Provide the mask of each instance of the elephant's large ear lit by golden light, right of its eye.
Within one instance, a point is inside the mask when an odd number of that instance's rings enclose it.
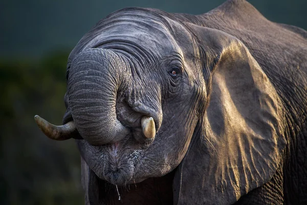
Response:
[[[174,204],[233,204],[275,174],[286,146],[283,112],[270,80],[240,40],[188,26],[199,46],[218,59],[209,72],[209,105],[173,180]]]

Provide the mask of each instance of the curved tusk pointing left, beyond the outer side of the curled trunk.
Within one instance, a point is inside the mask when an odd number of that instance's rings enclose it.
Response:
[[[50,139],[66,140],[72,137],[77,139],[82,138],[78,133],[74,121],[67,122],[67,124],[62,126],[55,126],[38,115],[35,115],[34,118],[39,129]]]

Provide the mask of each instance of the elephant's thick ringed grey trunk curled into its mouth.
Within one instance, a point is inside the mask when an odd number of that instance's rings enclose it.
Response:
[[[115,110],[128,68],[122,56],[105,49],[83,51],[71,64],[69,106],[80,135],[92,145],[115,143],[129,133]]]

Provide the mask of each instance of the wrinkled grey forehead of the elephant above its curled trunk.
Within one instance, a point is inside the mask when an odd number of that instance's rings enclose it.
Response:
[[[142,47],[157,57],[165,56],[170,52],[181,53],[169,29],[167,24],[157,16],[146,12],[123,11],[99,22],[83,36],[79,46],[82,47],[81,50],[87,50],[103,48],[109,44],[130,44]]]

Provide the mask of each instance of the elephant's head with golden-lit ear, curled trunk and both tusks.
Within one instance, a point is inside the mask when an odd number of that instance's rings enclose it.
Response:
[[[77,138],[82,172],[114,185],[176,172],[174,204],[236,201],[271,179],[286,144],[279,98],[249,50],[188,17],[107,16],[70,54],[67,82],[64,126],[36,117],[43,132]]]

